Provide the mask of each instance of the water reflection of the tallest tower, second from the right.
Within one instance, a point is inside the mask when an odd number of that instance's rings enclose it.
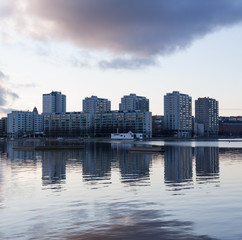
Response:
[[[192,181],[192,147],[165,146],[165,183]]]

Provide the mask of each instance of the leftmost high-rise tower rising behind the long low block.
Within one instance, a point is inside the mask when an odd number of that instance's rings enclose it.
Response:
[[[65,113],[66,95],[61,92],[43,94],[43,113]]]

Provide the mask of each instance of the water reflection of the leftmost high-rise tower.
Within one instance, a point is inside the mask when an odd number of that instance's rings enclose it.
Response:
[[[58,185],[62,183],[62,180],[66,179],[66,159],[68,159],[68,152],[66,151],[44,152],[42,159],[43,185]]]

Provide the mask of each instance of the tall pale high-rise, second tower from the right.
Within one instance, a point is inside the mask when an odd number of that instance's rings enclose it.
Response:
[[[173,91],[164,96],[164,124],[178,137],[191,136],[192,98],[189,95]]]

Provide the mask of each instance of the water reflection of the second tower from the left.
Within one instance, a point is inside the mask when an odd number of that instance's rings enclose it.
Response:
[[[110,144],[90,142],[85,145],[83,156],[83,180],[92,181],[111,179]]]

